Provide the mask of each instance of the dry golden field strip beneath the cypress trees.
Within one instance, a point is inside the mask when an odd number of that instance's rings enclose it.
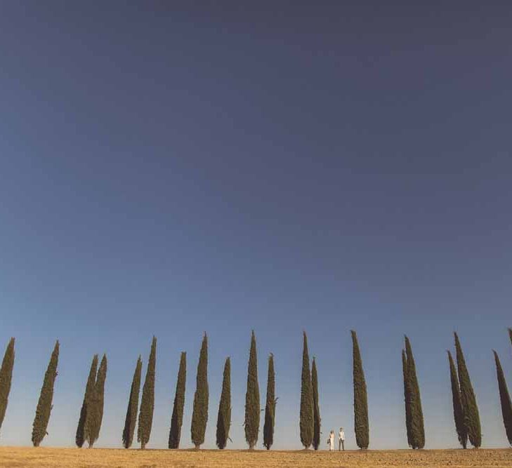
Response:
[[[0,467],[512,467],[500,450],[123,450],[1,447]]]

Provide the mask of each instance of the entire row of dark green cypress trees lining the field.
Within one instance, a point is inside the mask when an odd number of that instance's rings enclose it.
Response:
[[[362,368],[357,335],[354,330],[350,331],[353,342],[353,395],[354,395],[354,429],[357,446],[365,450],[369,446],[369,417],[367,387],[365,373]],[[512,328],[508,329],[512,343]],[[462,352],[461,343],[457,333],[454,333],[455,354],[457,366],[448,354],[448,365],[450,383],[452,389],[452,403],[455,429],[459,443],[466,448],[468,440],[478,448],[482,443],[480,428],[480,415],[478,405],[471,385],[466,361]],[[0,428],[6,413],[8,395],[11,389],[11,380],[14,365],[14,344],[15,339],[8,342],[4,359],[0,367]],[[155,407],[155,366],[157,354],[157,339],[153,337],[150,350],[150,358],[147,363],[147,371],[143,386],[143,394],[138,408],[140,381],[142,373],[142,360],[138,356],[131,391],[129,396],[126,419],[122,434],[122,441],[125,448],[131,447],[135,433],[136,419],[138,413],[137,440],[140,447],[145,448],[150,440],[152,428],[152,417]],[[512,445],[512,402],[508,393],[503,368],[496,351],[493,350],[494,362],[497,370],[497,382],[501,403],[501,413],[508,442]],[[39,446],[43,441],[48,427],[48,421],[53,408],[53,387],[57,377],[59,356],[59,342],[51,354],[46,373],[44,375],[39,401],[37,403],[36,415],[32,424],[32,443]],[[190,428],[192,443],[199,448],[204,443],[206,424],[208,421],[208,338],[204,333],[199,363],[197,365],[196,391],[192,412],[192,425]],[[228,357],[225,360],[223,372],[223,384],[221,399],[218,406],[216,444],[218,448],[225,448],[230,440],[229,432],[231,425],[231,394],[230,394],[230,373],[231,363]],[[425,429],[423,411],[421,408],[421,395],[419,382],[416,375],[416,365],[412,353],[410,340],[405,336],[405,348],[402,349],[402,373],[404,380],[405,399],[405,426],[407,431],[407,442],[411,448],[424,448]],[[104,354],[98,369],[98,354],[93,356],[91,368],[86,382],[84,400],[81,406],[79,422],[75,441],[78,447],[88,442],[89,448],[99,437],[101,422],[103,420],[105,380],[107,377],[107,357]],[[181,353],[178,379],[176,382],[176,393],[174,397],[173,413],[171,416],[171,429],[169,431],[169,448],[178,448],[180,443],[181,426],[183,424],[183,408],[185,405],[185,380],[186,380],[186,353]],[[263,425],[263,446],[270,450],[273,445],[275,427],[275,370],[274,356],[268,358],[267,394],[265,401],[265,420]],[[260,426],[260,395],[258,386],[258,362],[256,352],[256,336],[251,333],[251,346],[249,350],[249,363],[247,368],[247,392],[245,404],[244,432],[249,449],[254,449],[258,441]],[[303,333],[303,365],[301,378],[301,406],[299,417],[299,429],[301,443],[305,448],[313,446],[315,450],[320,446],[320,406],[318,401],[318,375],[315,358],[310,369],[308,352],[308,338]]]

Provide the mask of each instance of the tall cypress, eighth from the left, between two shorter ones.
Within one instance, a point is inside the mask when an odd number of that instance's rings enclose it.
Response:
[[[204,333],[197,363],[196,389],[194,394],[194,409],[192,410],[192,425],[190,435],[192,443],[198,449],[204,443],[204,433],[208,422],[208,337]]]

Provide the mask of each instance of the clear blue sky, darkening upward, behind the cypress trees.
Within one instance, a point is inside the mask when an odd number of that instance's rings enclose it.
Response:
[[[404,334],[426,448],[457,447],[454,330],[483,446],[508,446],[492,349],[512,385],[512,5],[420,3],[0,4],[0,352],[16,337],[1,445],[30,444],[58,339],[43,445],[74,444],[91,358],[106,353],[96,445],[121,447],[156,335],[147,447],[167,445],[182,351],[192,446],[206,331],[204,448],[227,356],[228,447],[245,448],[254,329],[262,402],[275,356],[274,448],[301,448],[303,330],[321,448],[340,426],[356,448],[354,329],[370,448],[407,448]]]

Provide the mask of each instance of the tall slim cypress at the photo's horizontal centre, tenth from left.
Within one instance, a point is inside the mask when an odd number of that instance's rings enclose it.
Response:
[[[260,389],[258,386],[258,356],[256,354],[256,336],[251,334],[251,349],[247,366],[247,392],[245,394],[245,440],[249,450],[253,450],[258,441],[260,429]]]

